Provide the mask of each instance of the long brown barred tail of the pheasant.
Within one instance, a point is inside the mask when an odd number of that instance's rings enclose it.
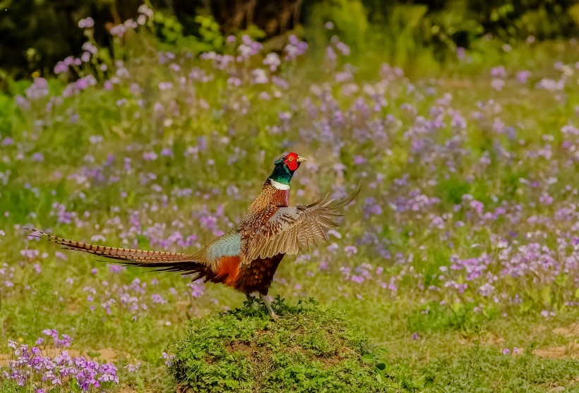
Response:
[[[136,250],[134,248],[117,248],[97,246],[95,244],[72,241],[59,236],[47,234],[38,229],[25,228],[31,233],[27,236],[41,238],[60,244],[65,250],[82,251],[92,255],[120,261],[123,265],[155,267],[159,271],[182,272],[182,274],[200,273],[207,265],[195,254],[172,253],[168,251]]]

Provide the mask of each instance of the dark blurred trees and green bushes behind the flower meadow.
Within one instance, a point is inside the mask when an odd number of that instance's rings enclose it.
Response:
[[[332,34],[352,52],[376,50],[381,60],[406,65],[428,56],[438,63],[479,42],[573,38],[579,32],[574,0],[153,0],[161,42],[199,53],[220,51],[223,37],[249,32],[273,49],[287,34],[323,47]],[[78,22],[95,20],[95,40],[137,15],[142,0],[0,0],[0,78],[47,75],[57,61],[78,56],[85,42]],[[316,46],[316,43],[320,45]],[[35,74],[36,75],[36,74]]]

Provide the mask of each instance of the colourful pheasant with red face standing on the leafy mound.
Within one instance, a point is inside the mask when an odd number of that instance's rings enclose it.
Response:
[[[96,246],[67,240],[37,229],[30,236],[58,243],[67,250],[100,255],[124,265],[151,267],[153,270],[192,275],[193,281],[225,284],[245,294],[257,292],[271,318],[277,319],[266,298],[275,270],[285,254],[297,254],[328,241],[327,231],[338,224],[341,207],[348,205],[359,193],[342,200],[328,199],[328,194],[310,205],[290,207],[290,181],[302,162],[294,152],[275,162],[273,172],[263,184],[257,198],[251,202],[244,218],[226,234],[215,238],[196,253],[136,250]]]

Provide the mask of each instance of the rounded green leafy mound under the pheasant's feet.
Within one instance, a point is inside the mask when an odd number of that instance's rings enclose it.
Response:
[[[299,301],[244,308],[191,320],[172,345],[172,373],[184,392],[383,392],[383,363],[343,313]]]

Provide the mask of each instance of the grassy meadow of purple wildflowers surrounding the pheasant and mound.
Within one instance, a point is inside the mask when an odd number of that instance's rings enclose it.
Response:
[[[0,95],[1,393],[177,391],[172,343],[244,296],[24,229],[193,252],[290,151],[308,159],[292,205],[361,192],[270,298],[343,313],[374,391],[579,392],[578,42],[489,37],[429,68],[354,52],[332,23],[323,47],[245,32],[193,53],[153,18],[108,47],[83,18],[80,56]]]

